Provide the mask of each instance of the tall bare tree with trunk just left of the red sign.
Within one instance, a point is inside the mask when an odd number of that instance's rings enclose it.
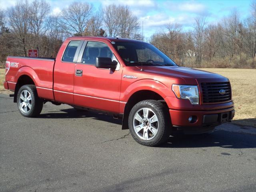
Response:
[[[22,42],[24,56],[27,56],[26,44],[28,32],[30,29],[30,14],[28,0],[18,1],[16,5],[8,9],[9,25],[12,32],[17,34],[18,39]]]

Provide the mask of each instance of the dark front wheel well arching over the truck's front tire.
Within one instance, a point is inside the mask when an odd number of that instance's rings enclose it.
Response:
[[[156,93],[154,91],[140,90],[140,91],[135,92],[134,94],[132,94],[132,96],[130,96],[128,102],[125,105],[122,129],[128,129],[128,118],[129,118],[130,111],[132,110],[132,107],[140,101],[149,100],[149,99],[159,100],[166,104],[164,98],[162,98],[162,96],[160,96],[158,93]],[[166,106],[167,106],[167,104],[166,104]]]

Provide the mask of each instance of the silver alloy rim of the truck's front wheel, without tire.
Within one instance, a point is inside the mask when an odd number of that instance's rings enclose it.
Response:
[[[158,132],[158,125],[158,118],[150,108],[141,108],[134,115],[134,131],[143,140],[154,138]]]

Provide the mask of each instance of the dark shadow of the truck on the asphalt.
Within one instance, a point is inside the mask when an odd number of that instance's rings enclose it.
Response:
[[[50,111],[41,114],[38,118],[93,118],[95,120],[122,124],[122,120],[114,119],[112,116],[89,111],[76,111],[73,108]],[[223,125],[225,126],[225,124]],[[211,134],[184,135],[175,134],[168,139],[166,144],[160,148],[203,148],[203,147],[222,147],[222,148],[256,148],[256,136],[216,130]]]

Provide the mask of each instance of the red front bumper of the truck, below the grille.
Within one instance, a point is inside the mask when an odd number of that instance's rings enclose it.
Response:
[[[184,130],[188,132],[193,130],[194,132],[197,132],[198,129],[206,129],[205,132],[209,132],[209,128],[214,129],[215,126],[229,122],[235,115],[234,107],[209,111],[170,109],[169,112],[172,125],[177,128],[177,130]],[[193,116],[196,120],[194,120],[194,122],[190,122],[190,116]]]

